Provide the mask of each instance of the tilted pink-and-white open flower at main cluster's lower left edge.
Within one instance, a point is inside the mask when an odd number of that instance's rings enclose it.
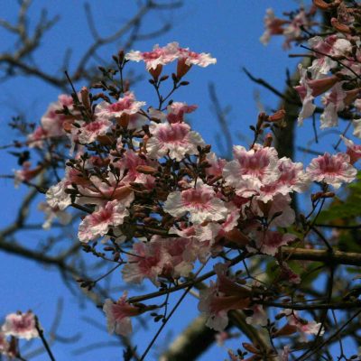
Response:
[[[117,199],[107,202],[105,207],[98,208],[80,223],[79,240],[88,242],[97,236],[106,235],[111,227],[122,225],[128,215],[125,205]]]

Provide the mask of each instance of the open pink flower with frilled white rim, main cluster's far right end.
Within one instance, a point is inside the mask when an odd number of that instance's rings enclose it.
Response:
[[[310,180],[324,181],[335,188],[339,188],[342,182],[349,183],[355,180],[357,173],[345,153],[319,155],[310,162],[306,171]]]

